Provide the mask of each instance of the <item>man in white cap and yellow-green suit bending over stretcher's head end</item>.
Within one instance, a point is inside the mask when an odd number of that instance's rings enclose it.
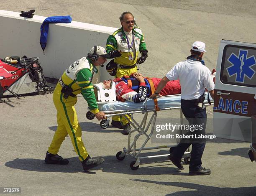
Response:
[[[105,48],[93,46],[87,57],[75,61],[59,79],[53,93],[53,101],[57,109],[58,127],[46,153],[44,160],[46,164],[65,165],[69,163],[69,160],[57,154],[67,135],[69,135],[74,150],[82,162],[84,171],[104,161],[103,158],[92,158],[87,153],[82,141],[82,130],[77,120],[74,104],[77,103],[77,94],[81,93],[95,117],[98,120],[105,118],[105,114],[98,109],[91,82],[93,71],[96,70],[97,72],[96,66],[104,64],[107,56]]]

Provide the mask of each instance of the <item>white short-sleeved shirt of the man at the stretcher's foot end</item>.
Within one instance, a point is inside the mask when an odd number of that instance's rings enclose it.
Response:
[[[204,92],[214,89],[210,70],[200,61],[186,60],[177,63],[166,74],[169,80],[179,79],[181,98],[185,100],[198,99]]]

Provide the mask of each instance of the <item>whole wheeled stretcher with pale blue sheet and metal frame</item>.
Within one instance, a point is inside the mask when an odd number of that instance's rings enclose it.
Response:
[[[98,92],[99,93],[99,92]],[[102,92],[103,93],[103,92]],[[106,92],[104,92],[106,94]],[[98,94],[99,97],[99,94]],[[107,96],[109,97],[109,96]],[[151,139],[153,135],[157,112],[170,110],[170,109],[180,109],[180,123],[182,124],[182,111],[181,111],[181,97],[180,94],[177,95],[168,95],[164,97],[158,97],[157,99],[147,98],[145,102],[141,103],[134,103],[134,102],[120,102],[120,101],[112,101],[112,102],[104,102],[105,98],[100,98],[103,102],[97,102],[99,110],[106,114],[107,119],[102,120],[100,122],[100,127],[103,129],[108,128],[110,117],[113,116],[120,116],[128,120],[128,122],[132,126],[131,132],[128,134],[128,145],[127,148],[123,148],[123,151],[119,151],[116,153],[116,158],[118,160],[123,160],[125,155],[131,155],[135,158],[135,161],[130,163],[130,168],[132,170],[137,170],[140,165],[141,159],[146,158],[156,158],[156,157],[167,157],[169,154],[164,155],[152,155],[152,156],[144,156],[141,157],[141,151],[143,150],[154,150],[154,149],[161,149],[161,148],[169,148],[169,152],[172,153],[174,148],[177,145],[161,145],[156,147],[145,147],[148,141]],[[210,97],[210,101],[213,102],[213,99]],[[157,104],[156,104],[157,102]],[[207,102],[207,94],[205,94],[205,105],[209,105]],[[143,114],[143,119],[141,122],[137,122],[137,120],[133,117],[133,114]],[[130,119],[125,115],[129,115]],[[94,118],[94,114],[92,112],[87,112],[86,114],[87,119],[92,120]],[[135,135],[134,135],[135,134]],[[133,135],[133,138],[132,138]],[[143,144],[137,148],[137,141],[139,137],[144,136],[145,140]],[[190,151],[188,149],[187,152],[184,153],[184,162],[189,164],[190,161]]]

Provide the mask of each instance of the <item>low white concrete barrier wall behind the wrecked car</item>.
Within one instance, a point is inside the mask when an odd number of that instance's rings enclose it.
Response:
[[[40,26],[46,17],[24,18],[20,13],[0,10],[0,58],[6,56],[38,56],[46,77],[59,78],[77,59],[87,56],[94,45],[105,47],[108,35],[116,28],[72,21],[49,25],[45,55],[41,49]],[[71,16],[72,17],[72,16]],[[105,67],[100,80],[109,79]],[[97,82],[99,75],[96,75]]]

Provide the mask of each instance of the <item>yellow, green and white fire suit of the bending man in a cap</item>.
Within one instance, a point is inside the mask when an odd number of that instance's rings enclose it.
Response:
[[[75,61],[59,79],[58,84],[53,93],[54,105],[57,109],[57,130],[54,134],[53,140],[48,152],[51,154],[57,154],[61,143],[65,140],[65,137],[69,135],[74,150],[79,156],[79,160],[83,161],[87,158],[88,153],[84,147],[82,141],[82,130],[77,120],[77,113],[74,108],[74,104],[77,103],[77,94],[82,94],[84,99],[87,101],[91,112],[96,114],[99,112],[95,94],[93,92],[93,86],[91,84],[93,76],[92,62],[86,57],[83,57]],[[64,94],[61,93],[61,89],[64,84],[77,90],[72,92],[72,96],[68,96],[65,99]]]

